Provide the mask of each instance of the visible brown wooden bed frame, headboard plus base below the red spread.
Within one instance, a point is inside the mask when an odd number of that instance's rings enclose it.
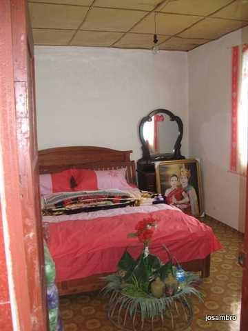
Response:
[[[40,174],[59,172],[68,168],[109,170],[127,168],[127,182],[136,184],[134,161],[130,161],[132,150],[120,151],[92,146],[70,146],[49,148],[39,151]],[[189,271],[199,271],[202,277],[209,276],[210,255],[182,263]],[[75,294],[99,290],[105,285],[101,277],[107,274],[95,274],[83,279],[73,279],[58,283],[59,294]]]

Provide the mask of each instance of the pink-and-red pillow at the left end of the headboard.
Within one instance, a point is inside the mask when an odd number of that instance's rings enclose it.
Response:
[[[51,194],[56,192],[71,192],[72,169],[52,174],[40,174],[40,191],[41,194]]]

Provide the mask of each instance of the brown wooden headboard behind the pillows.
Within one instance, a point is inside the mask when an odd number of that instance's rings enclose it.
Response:
[[[39,172],[48,174],[68,168],[109,170],[127,168],[127,182],[136,184],[135,163],[130,161],[132,150],[112,150],[94,146],[48,148],[39,151]]]

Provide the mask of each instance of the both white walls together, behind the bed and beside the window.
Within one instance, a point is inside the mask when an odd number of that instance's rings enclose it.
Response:
[[[184,123],[183,154],[202,160],[206,213],[243,230],[245,178],[229,172],[231,46],[241,39],[247,40],[247,28],[188,53],[155,56],[35,47],[39,148],[132,149],[136,160],[141,118],[156,108],[172,110]]]

